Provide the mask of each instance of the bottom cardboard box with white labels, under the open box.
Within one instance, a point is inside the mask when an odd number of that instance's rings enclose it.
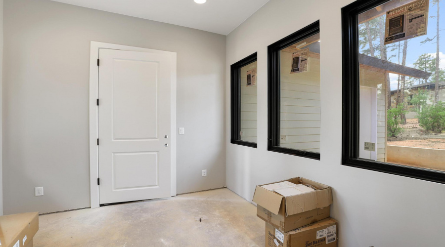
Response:
[[[337,221],[327,218],[282,233],[266,223],[266,247],[336,247]]]

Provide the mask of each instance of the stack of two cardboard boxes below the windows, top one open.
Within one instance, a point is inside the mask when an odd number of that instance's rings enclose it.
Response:
[[[329,186],[295,177],[258,185],[253,201],[257,216],[266,221],[266,247],[337,246]]]

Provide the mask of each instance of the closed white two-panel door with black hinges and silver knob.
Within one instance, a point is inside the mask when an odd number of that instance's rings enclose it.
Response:
[[[99,203],[170,197],[168,55],[99,50]]]

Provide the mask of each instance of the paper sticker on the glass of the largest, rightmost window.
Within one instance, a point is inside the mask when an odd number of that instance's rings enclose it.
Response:
[[[386,11],[385,44],[426,35],[429,0],[416,0]]]

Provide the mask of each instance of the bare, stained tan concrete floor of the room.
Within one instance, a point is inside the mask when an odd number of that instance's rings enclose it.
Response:
[[[35,247],[263,247],[257,208],[228,189],[42,215]],[[201,218],[201,222],[199,221]]]

